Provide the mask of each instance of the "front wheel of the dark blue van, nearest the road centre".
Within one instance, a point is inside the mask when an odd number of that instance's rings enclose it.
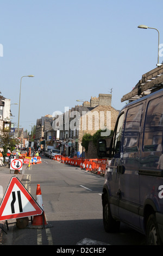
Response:
[[[103,200],[103,224],[106,232],[117,232],[120,228],[120,222],[112,218],[107,194]]]

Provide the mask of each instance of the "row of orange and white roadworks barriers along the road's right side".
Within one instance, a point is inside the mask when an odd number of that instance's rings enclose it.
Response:
[[[53,160],[64,164],[70,164],[71,166],[80,167],[87,172],[96,173],[101,176],[105,174],[105,170],[108,167],[107,159],[83,159],[81,157],[55,155]]]

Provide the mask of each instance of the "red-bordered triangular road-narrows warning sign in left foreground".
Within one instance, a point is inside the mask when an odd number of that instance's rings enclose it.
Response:
[[[41,215],[43,210],[23,186],[13,176],[0,205],[0,221],[28,216]]]

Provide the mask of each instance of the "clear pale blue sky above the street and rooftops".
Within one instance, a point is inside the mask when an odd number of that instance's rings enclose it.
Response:
[[[163,44],[162,9],[162,0],[2,0],[2,95],[18,103],[21,77],[35,76],[22,78],[20,127],[111,88],[121,109],[121,97],[156,68],[158,33],[137,26],[157,28]],[[11,112],[17,123],[18,105]]]

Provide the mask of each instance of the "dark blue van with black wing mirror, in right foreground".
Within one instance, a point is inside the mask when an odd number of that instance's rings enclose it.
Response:
[[[163,242],[163,89],[128,103],[118,115],[110,148],[100,139],[97,154],[108,156],[102,193],[107,232],[120,222]],[[107,155],[108,153],[108,155]]]

